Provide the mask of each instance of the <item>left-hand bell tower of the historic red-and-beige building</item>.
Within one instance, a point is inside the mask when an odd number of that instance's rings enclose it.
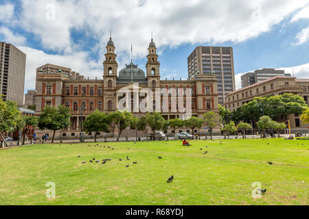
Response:
[[[106,45],[105,61],[104,66],[104,110],[113,111],[115,110],[115,90],[117,87],[117,68],[118,64],[116,61],[117,55],[115,54],[115,45],[112,38]]]

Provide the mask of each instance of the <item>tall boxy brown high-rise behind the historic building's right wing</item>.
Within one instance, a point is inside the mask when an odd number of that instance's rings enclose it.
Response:
[[[198,74],[215,74],[218,82],[218,101],[236,90],[232,47],[196,47],[187,57],[189,79]]]

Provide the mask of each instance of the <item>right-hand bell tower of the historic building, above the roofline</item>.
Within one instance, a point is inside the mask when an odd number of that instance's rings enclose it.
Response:
[[[147,59],[146,75],[148,88],[160,88],[160,62],[158,62],[157,47],[152,38],[148,47]]]

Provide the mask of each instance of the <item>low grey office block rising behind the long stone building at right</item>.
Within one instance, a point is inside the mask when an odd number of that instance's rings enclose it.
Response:
[[[246,73],[242,75],[242,88],[247,86],[251,86],[254,83],[259,83],[266,79],[270,79],[271,77],[275,76],[288,76],[290,74],[284,73],[284,70],[275,70],[275,68],[263,68],[260,70],[255,70],[253,73]]]

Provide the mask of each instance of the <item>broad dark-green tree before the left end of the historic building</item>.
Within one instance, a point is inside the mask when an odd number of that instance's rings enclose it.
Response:
[[[54,143],[55,133],[60,129],[67,129],[70,123],[70,109],[63,105],[56,107],[45,107],[38,118],[38,127],[41,130],[49,129],[54,131],[52,143]]]

